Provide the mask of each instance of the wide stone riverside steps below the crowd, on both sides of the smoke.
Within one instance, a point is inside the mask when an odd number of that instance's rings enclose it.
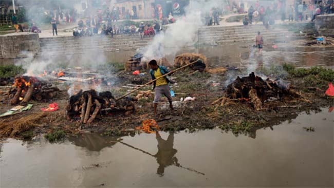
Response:
[[[266,29],[263,25],[251,26],[210,26],[201,27],[193,44],[227,45],[233,43],[253,43],[257,31],[263,35],[265,43],[283,42],[287,40],[305,39],[305,34],[293,33],[280,25]],[[150,44],[153,37],[140,40],[138,35],[114,35],[91,37],[45,37],[40,38],[40,51],[37,56],[80,54],[88,51],[114,52],[136,50]]]

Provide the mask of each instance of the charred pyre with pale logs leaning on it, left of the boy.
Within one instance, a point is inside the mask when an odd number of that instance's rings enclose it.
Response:
[[[80,117],[81,123],[92,123],[96,118],[102,119],[111,113],[131,115],[136,111],[132,101],[115,101],[112,93],[104,91],[98,93],[96,90],[82,91],[73,95],[67,101],[66,116],[69,119]]]

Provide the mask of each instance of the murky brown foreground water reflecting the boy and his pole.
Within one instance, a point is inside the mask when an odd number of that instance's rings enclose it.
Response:
[[[256,131],[6,140],[0,187],[333,186],[333,112]],[[314,127],[314,132],[303,127]],[[118,142],[121,141],[121,142]]]

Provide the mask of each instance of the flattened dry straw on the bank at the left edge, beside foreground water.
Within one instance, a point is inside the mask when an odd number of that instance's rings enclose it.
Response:
[[[45,112],[32,114],[20,119],[3,120],[0,122],[0,135],[14,137],[24,131],[29,130],[33,126],[39,126],[37,121],[46,117]]]

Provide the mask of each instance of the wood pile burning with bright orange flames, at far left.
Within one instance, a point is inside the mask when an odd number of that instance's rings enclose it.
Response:
[[[15,78],[13,89],[8,92],[10,103],[28,103],[30,100],[42,101],[49,100],[57,96],[60,89],[45,81],[38,80],[34,77]]]

